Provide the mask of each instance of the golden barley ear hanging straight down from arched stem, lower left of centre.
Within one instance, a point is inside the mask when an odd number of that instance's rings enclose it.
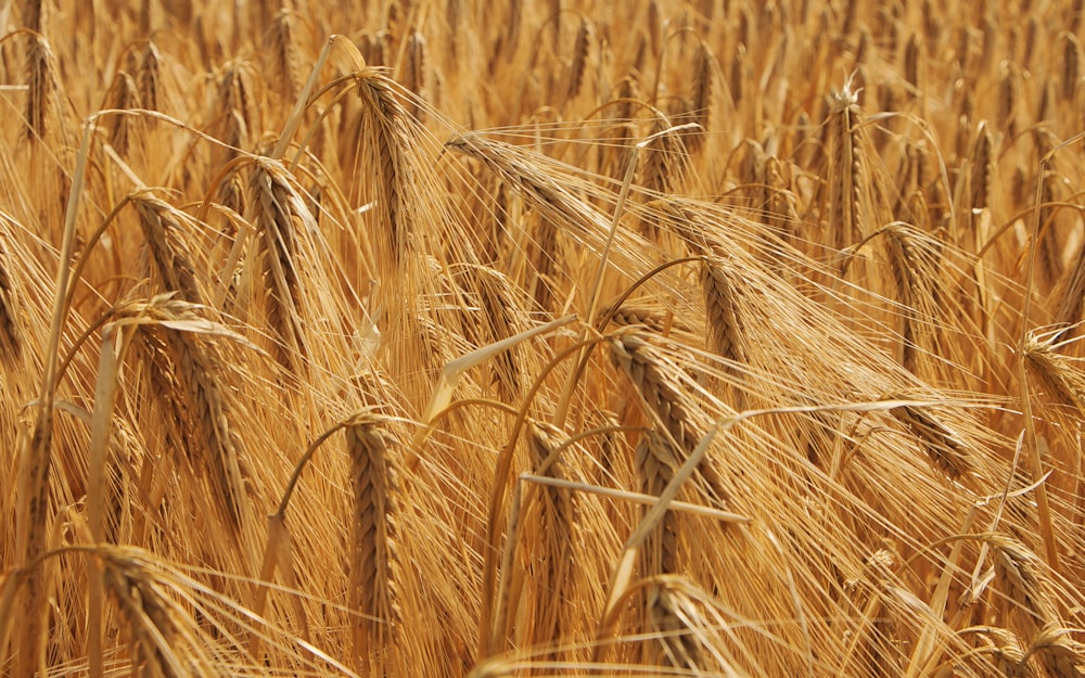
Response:
[[[400,632],[398,442],[384,417],[363,412],[345,427],[350,461],[350,609],[354,654],[390,657]],[[386,664],[390,667],[392,664]]]

